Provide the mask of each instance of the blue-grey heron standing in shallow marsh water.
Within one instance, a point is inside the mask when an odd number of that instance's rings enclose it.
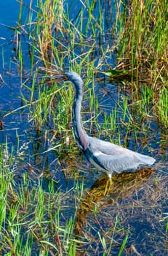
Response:
[[[136,170],[140,165],[153,165],[156,161],[153,157],[89,136],[81,121],[84,85],[81,76],[71,71],[65,72],[63,75],[56,75],[56,77],[63,78],[63,80],[73,84],[76,94],[73,101],[72,120],[76,142],[87,160],[97,169],[107,174],[109,184],[111,184],[111,177],[115,173]]]

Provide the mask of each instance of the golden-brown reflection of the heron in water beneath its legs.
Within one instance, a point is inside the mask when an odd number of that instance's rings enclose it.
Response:
[[[76,235],[84,234],[84,226],[90,214],[94,214],[95,206],[97,210],[112,206],[113,203],[124,199],[129,193],[140,187],[154,173],[151,168],[138,170],[134,173],[120,173],[112,176],[113,184],[109,187],[108,195],[104,194],[107,176],[98,178],[92,187],[87,191],[86,197],[79,205],[76,213]]]

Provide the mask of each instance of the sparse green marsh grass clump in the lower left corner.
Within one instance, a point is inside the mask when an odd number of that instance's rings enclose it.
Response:
[[[75,255],[75,210],[71,221],[65,221],[68,193],[65,192],[63,206],[60,193],[54,192],[54,183],[49,184],[46,192],[42,187],[43,178],[30,177],[28,173],[22,176],[17,171],[13,166],[16,159],[7,152],[7,146],[0,148],[0,153],[1,253],[32,255],[38,251],[45,255],[61,255],[73,251]]]

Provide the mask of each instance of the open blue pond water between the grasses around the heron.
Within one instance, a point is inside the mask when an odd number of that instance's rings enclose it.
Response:
[[[35,2],[33,1],[34,8],[36,8]],[[77,12],[79,2],[73,1],[71,10],[74,9],[74,6]],[[23,20],[28,15],[26,4],[29,5],[29,3],[30,1],[28,0],[24,1]],[[67,3],[69,4],[69,1]],[[17,1],[0,1],[0,23],[7,26],[16,26],[19,8],[20,3]],[[28,109],[23,108],[24,102],[20,92],[26,98],[30,98],[31,93],[20,85],[20,75],[17,61],[15,61],[14,31],[7,28],[7,26],[0,26],[0,120],[2,121],[0,144],[4,145],[7,142],[9,152],[15,156],[16,182],[22,181],[23,173],[28,173],[30,167],[34,170],[34,173],[30,174],[30,178],[34,180],[33,182],[36,185],[39,182],[38,177],[43,173],[43,189],[45,191],[48,192],[49,182],[52,179],[57,181],[55,183],[55,191],[57,189],[60,189],[61,192],[70,191],[69,195],[66,193],[63,201],[63,206],[69,205],[72,201],[68,213],[63,210],[68,219],[76,211],[72,200],[75,192],[72,189],[76,183],[77,172],[79,173],[79,187],[84,180],[84,189],[86,190],[84,192],[84,202],[79,205],[79,211],[77,212],[76,230],[79,233],[90,232],[95,237],[97,244],[92,244],[90,255],[103,255],[104,248],[95,230],[103,227],[103,231],[104,233],[107,232],[108,237],[107,230],[111,230],[113,223],[116,221],[116,216],[119,217],[120,224],[117,222],[119,235],[115,237],[116,243],[112,249],[113,255],[117,255],[119,252],[118,244],[123,241],[125,230],[129,230],[129,240],[124,255],[167,255],[167,238],[165,234],[167,221],[164,219],[164,214],[168,212],[167,129],[161,127],[155,119],[151,119],[146,124],[140,125],[140,128],[148,131],[147,134],[144,135],[144,132],[140,131],[136,133],[135,137],[134,132],[132,132],[132,135],[125,142],[126,129],[119,126],[121,145],[144,154],[151,154],[152,157],[156,158],[155,172],[153,173],[149,170],[146,175],[140,173],[140,176],[139,174],[137,175],[136,181],[135,176],[123,178],[123,180],[119,179],[116,182],[115,189],[111,189],[107,198],[104,197],[99,188],[102,184],[101,176],[103,173],[88,165],[79,151],[71,154],[66,148],[65,154],[60,152],[60,155],[55,150],[48,151],[54,145],[53,128],[34,129],[33,121],[29,120]],[[106,23],[106,26],[110,26],[110,22]],[[27,49],[27,45],[25,45],[25,49]],[[25,53],[23,52],[24,54],[26,74],[30,69],[30,63],[29,61],[26,62],[26,58],[28,58],[26,56],[27,50],[25,50]],[[111,66],[113,66],[113,60],[111,60]],[[31,81],[28,81],[27,85],[31,86]],[[105,113],[110,116],[116,102],[122,99],[124,94],[121,86],[116,86],[115,83],[107,79],[95,79],[95,93],[97,94],[99,105],[98,110],[101,113],[98,121],[102,124]],[[84,104],[86,105],[84,108],[88,110],[88,99]],[[14,112],[12,113],[12,111]],[[87,119],[88,116],[85,115],[84,118]],[[125,121],[128,120],[126,119]],[[90,129],[89,124],[88,129]],[[48,132],[47,140],[45,140],[46,130]],[[95,127],[95,133],[97,130],[97,127]],[[91,134],[92,131],[90,132]],[[106,140],[110,139],[110,135],[107,134],[102,134],[101,137]],[[114,141],[119,139],[116,139],[116,137],[117,132],[111,135]],[[146,146],[146,143],[148,143],[148,146]],[[74,175],[70,175],[69,173],[71,172]],[[97,217],[92,213],[96,203]],[[85,225],[86,222],[87,225]],[[121,233],[123,234],[121,235]],[[109,232],[109,237],[107,238],[108,245],[111,243],[110,234]],[[119,241],[117,241],[117,236],[119,236]],[[83,246],[83,249],[86,248],[87,243]],[[94,251],[94,248],[96,250],[98,248],[98,251]],[[138,254],[139,252],[140,254]]]

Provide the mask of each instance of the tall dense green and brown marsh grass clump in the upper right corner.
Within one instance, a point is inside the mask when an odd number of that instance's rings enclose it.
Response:
[[[120,6],[121,7],[121,6]],[[167,127],[167,6],[164,1],[132,1],[119,18],[119,69],[130,80],[132,102],[143,102],[142,88],[150,92],[151,115]],[[163,101],[164,94],[164,101]],[[163,103],[164,102],[164,103]],[[162,105],[162,108],[160,106]],[[136,108],[140,105],[137,104]]]

